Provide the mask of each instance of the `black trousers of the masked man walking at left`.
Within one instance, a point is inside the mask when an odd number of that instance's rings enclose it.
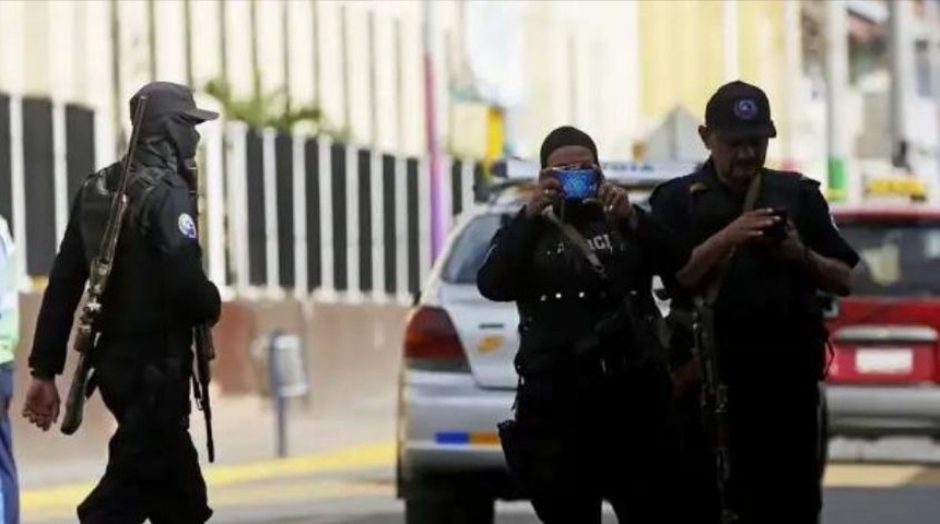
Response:
[[[82,524],[203,524],[212,515],[189,436],[191,354],[183,347],[166,357],[151,344],[109,344],[96,362],[98,391],[118,426],[105,474],[78,508]]]

